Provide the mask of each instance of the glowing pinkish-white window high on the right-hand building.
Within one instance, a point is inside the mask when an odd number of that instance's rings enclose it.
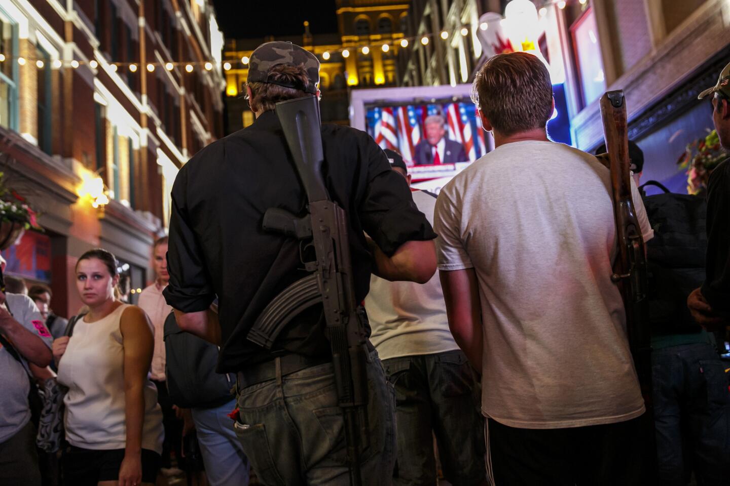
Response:
[[[596,101],[606,90],[596,16],[593,15],[592,8],[585,9],[583,15],[570,26],[570,36],[575,71],[580,82],[580,97],[585,107]]]

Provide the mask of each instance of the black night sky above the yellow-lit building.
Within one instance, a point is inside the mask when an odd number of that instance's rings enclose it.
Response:
[[[304,20],[312,34],[337,33],[335,0],[213,0],[226,38],[301,35]],[[314,7],[316,6],[316,7]]]

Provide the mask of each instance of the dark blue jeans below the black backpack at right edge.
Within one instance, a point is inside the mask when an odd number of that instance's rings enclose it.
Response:
[[[730,391],[709,344],[652,353],[654,420],[661,485],[730,484]]]

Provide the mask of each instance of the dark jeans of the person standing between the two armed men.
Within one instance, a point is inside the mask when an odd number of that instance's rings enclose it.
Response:
[[[475,372],[461,350],[383,361],[396,389],[395,485],[435,485],[436,436],[444,477],[454,486],[485,481],[484,417]]]

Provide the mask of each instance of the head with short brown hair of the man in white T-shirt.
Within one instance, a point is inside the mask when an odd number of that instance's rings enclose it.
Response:
[[[527,52],[495,55],[477,73],[472,101],[504,136],[545,128],[553,114],[550,73]]]

